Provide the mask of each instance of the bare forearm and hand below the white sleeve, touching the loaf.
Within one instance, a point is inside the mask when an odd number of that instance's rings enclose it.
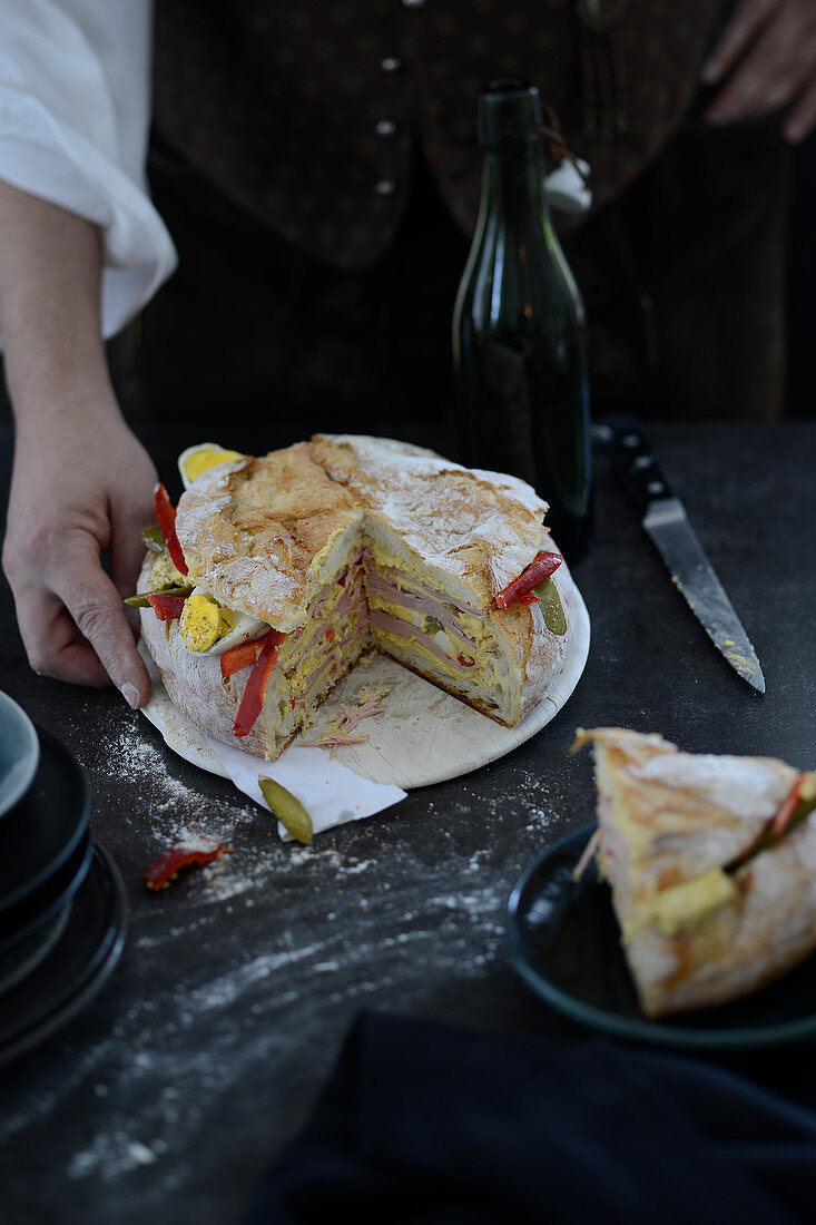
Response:
[[[2,565],[20,632],[38,673],[110,680],[141,706],[149,677],[121,598],[154,517],[156,469],[108,376],[100,268],[94,225],[0,181],[0,326],[16,421]]]

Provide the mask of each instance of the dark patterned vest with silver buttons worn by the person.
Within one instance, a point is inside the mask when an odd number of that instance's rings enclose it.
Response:
[[[578,18],[598,11],[599,29]],[[595,208],[614,198],[687,114],[722,13],[722,0],[156,0],[154,123],[276,234],[359,267],[396,230],[417,140],[472,232],[491,77],[538,85],[592,165]]]

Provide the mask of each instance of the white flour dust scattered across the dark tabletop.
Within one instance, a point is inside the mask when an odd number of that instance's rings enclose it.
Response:
[[[200,837],[214,837],[233,844],[223,862],[195,869],[179,876],[174,889],[189,889],[197,902],[225,902],[245,894],[243,905],[254,904],[265,881],[281,869],[297,873],[342,873],[348,881],[349,898],[355,905],[355,940],[349,941],[339,914],[327,909],[315,940],[284,932],[274,948],[263,948],[236,965],[224,968],[210,979],[195,976],[180,982],[161,1001],[135,1000],[118,1018],[102,1042],[85,1051],[61,1072],[61,1079],[48,1093],[33,1094],[25,1112],[0,1112],[0,1143],[4,1138],[49,1117],[70,1100],[75,1090],[87,1087],[96,1098],[110,1102],[105,1126],[87,1137],[69,1158],[66,1174],[71,1180],[91,1177],[115,1181],[149,1167],[156,1198],[140,1203],[153,1207],[161,1197],[190,1177],[187,1145],[195,1143],[197,1129],[214,1117],[224,1095],[234,1093],[241,1078],[254,1074],[270,1058],[290,1063],[304,1042],[316,1041],[320,1030],[315,1018],[321,1009],[365,1003],[372,995],[387,1001],[383,992],[391,981],[399,984],[401,998],[428,997],[429,981],[479,976],[484,965],[500,956],[504,938],[505,883],[488,867],[489,850],[477,850],[467,858],[440,855],[437,861],[424,858],[415,865],[406,862],[388,878],[370,855],[355,858],[353,840],[341,853],[331,843],[321,846],[317,837],[309,846],[282,843],[277,828],[265,810],[235,795],[235,801],[213,802],[195,784],[187,786],[173,774],[173,758],[140,736],[138,724],[116,730],[113,739],[88,750],[97,771],[113,779],[127,779],[140,802],[134,811],[123,806],[116,820],[129,821],[145,843],[145,866],[173,844]],[[168,768],[169,767],[169,768]],[[551,797],[548,780],[532,771],[518,777],[501,796],[486,801],[490,815],[522,815],[529,828],[544,828],[556,821],[564,799]],[[429,812],[436,813],[444,833],[450,812],[485,809],[479,780],[463,780],[456,800],[431,799]],[[387,843],[387,838],[383,839]],[[366,843],[366,845],[370,845]],[[385,855],[383,855],[385,859]],[[417,882],[421,881],[421,895]],[[348,899],[347,899],[348,900]],[[216,910],[186,915],[180,929],[146,927],[135,938],[136,948],[172,942],[176,931],[202,930],[218,921]],[[309,925],[306,925],[309,926]],[[158,925],[157,925],[158,927]],[[474,943],[473,932],[479,932]],[[387,953],[393,979],[371,976],[380,952]],[[270,990],[276,975],[292,970],[288,990]],[[311,993],[310,993],[311,992]],[[240,1009],[241,1023],[234,1023]],[[200,1017],[216,1030],[200,1029]],[[281,1024],[281,1018],[298,1024]],[[221,1018],[221,1019],[219,1019]],[[213,1058],[213,1049],[201,1039],[217,1034],[223,1057]],[[127,1057],[123,1061],[121,1051]],[[123,1112],[119,1099],[141,1100],[138,1094],[152,1090],[137,1116]]]

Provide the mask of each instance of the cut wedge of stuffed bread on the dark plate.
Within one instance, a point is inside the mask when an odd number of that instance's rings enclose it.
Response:
[[[816,948],[816,774],[621,728],[588,741],[595,859],[647,1016],[725,1003]]]

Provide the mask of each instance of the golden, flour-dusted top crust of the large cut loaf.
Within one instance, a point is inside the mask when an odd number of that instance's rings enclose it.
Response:
[[[364,517],[444,589],[485,609],[542,549],[545,511],[512,477],[388,439],[317,435],[203,473],[175,526],[201,586],[288,632],[336,568],[332,544]]]

